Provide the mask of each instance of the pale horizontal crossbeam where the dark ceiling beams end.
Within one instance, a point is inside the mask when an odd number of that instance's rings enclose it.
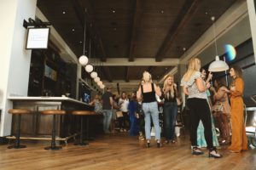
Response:
[[[100,61],[93,59],[92,65],[96,65]],[[104,62],[104,66],[172,66],[178,65],[179,59],[162,59],[161,62],[156,62],[154,58],[136,58],[134,62],[129,62],[127,58],[108,58],[108,62]]]

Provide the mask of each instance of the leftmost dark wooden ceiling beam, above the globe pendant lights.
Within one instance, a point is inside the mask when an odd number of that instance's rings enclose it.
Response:
[[[105,48],[103,46],[103,42],[102,42],[102,38],[100,36],[100,31],[98,29],[95,17],[94,17],[94,10],[90,5],[90,1],[89,0],[71,0],[71,2],[73,3],[73,7],[75,8],[76,14],[78,15],[78,18],[80,20],[81,26],[84,28],[84,10],[86,8],[86,22],[89,21],[89,23],[92,24],[92,26],[90,27],[90,31],[94,31],[94,33],[96,34],[97,40],[99,42],[100,48],[102,50],[102,55],[101,55],[101,60],[102,61],[107,61],[107,55],[106,55],[106,51]],[[88,26],[89,27],[89,26]]]

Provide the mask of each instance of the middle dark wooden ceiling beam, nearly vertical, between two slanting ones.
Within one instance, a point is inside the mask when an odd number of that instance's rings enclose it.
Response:
[[[131,44],[129,61],[134,61],[133,51],[137,44],[138,29],[142,19],[141,0],[136,0],[134,14],[133,14],[133,25],[131,31]]]

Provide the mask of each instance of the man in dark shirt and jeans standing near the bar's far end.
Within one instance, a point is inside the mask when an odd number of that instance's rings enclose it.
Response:
[[[103,130],[105,133],[109,132],[109,125],[112,118],[113,98],[111,87],[107,87],[107,91],[102,95],[102,112],[103,112]]]

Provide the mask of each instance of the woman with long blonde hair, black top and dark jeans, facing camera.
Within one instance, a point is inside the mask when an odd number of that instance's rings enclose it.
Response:
[[[177,95],[177,85],[173,81],[173,76],[167,75],[163,88],[166,144],[169,144],[169,142],[174,144],[176,142],[174,139],[174,130],[177,117]]]

